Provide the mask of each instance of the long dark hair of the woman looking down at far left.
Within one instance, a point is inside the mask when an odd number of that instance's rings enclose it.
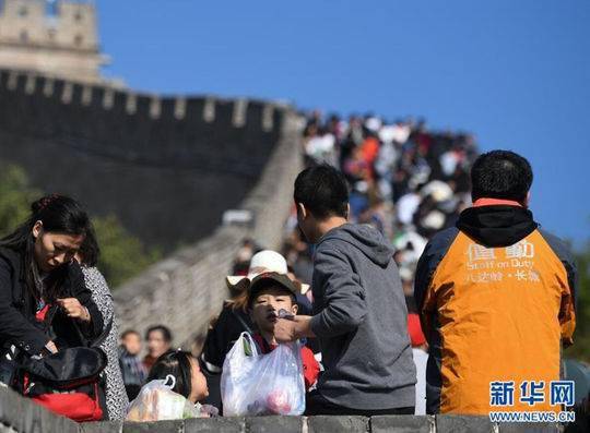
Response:
[[[30,217],[12,233],[0,239],[0,246],[14,250],[21,255],[27,290],[36,300],[40,298],[33,270],[35,261],[33,227],[37,221],[43,222],[45,232],[85,237],[92,231],[88,215],[75,200],[52,194],[32,203]],[[59,297],[63,272],[55,272],[49,278],[44,293],[46,302],[52,302]]]

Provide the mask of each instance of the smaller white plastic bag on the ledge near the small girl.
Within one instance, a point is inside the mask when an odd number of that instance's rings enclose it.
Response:
[[[172,378],[172,380],[170,380]],[[172,390],[174,376],[145,384],[130,402],[127,421],[163,421],[201,417],[200,410],[188,399]],[[172,385],[168,383],[172,382]]]

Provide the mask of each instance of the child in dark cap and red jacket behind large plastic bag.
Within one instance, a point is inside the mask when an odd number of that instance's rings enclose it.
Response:
[[[252,279],[248,290],[248,309],[258,332],[252,335],[261,353],[269,353],[276,348],[274,324],[279,315],[297,314],[295,296],[297,289],[286,276],[278,273],[263,273]],[[306,390],[316,383],[319,364],[314,352],[303,346],[302,360]]]

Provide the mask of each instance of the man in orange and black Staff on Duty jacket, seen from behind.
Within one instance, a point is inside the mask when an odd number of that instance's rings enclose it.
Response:
[[[429,344],[428,413],[557,412],[568,404],[560,349],[573,344],[576,268],[564,242],[533,220],[532,178],[512,152],[481,155],[473,206],[422,254],[414,296]]]

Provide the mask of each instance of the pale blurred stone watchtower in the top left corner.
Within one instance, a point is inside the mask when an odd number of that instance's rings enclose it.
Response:
[[[0,0],[0,68],[105,84],[93,2]]]

